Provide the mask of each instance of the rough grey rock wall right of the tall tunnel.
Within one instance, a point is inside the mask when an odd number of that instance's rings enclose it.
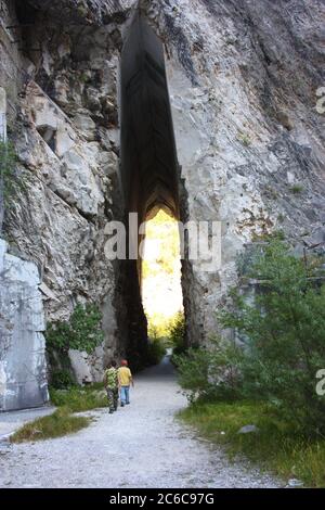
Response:
[[[148,2],[146,2],[148,3]],[[324,243],[324,2],[150,2],[167,48],[186,216],[222,221],[222,267],[184,265],[191,342],[216,331],[245,243]],[[299,191],[298,191],[299,190]],[[184,205],[184,204],[183,204]]]

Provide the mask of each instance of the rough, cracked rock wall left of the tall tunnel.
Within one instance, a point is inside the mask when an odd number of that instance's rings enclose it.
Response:
[[[104,256],[105,225],[122,214],[116,89],[120,41],[115,25],[101,31],[72,22],[72,28],[61,17],[66,24],[62,30],[52,11],[43,17],[28,5],[16,2],[16,12],[3,20],[13,28],[1,34],[1,42],[14,37],[24,50],[17,51],[21,60],[10,51],[6,55],[21,78],[11,76],[16,90],[9,126],[24,189],[6,211],[5,237],[12,250],[38,265],[48,321],[67,319],[78,302],[101,306],[105,341],[84,370],[87,379],[90,373],[100,380],[103,364],[127,344],[119,267]],[[1,64],[6,61],[1,52]],[[8,90],[10,71],[9,65],[1,68]]]

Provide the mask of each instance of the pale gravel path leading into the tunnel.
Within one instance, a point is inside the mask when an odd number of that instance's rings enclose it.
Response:
[[[102,409],[74,435],[13,445],[0,455],[0,487],[280,487],[174,420],[184,406],[168,359],[135,380],[131,405]]]

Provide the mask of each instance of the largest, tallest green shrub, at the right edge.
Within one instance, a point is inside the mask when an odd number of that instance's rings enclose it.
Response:
[[[234,359],[243,395],[272,403],[308,434],[324,434],[315,377],[325,367],[325,285],[310,278],[314,271],[272,241],[251,269],[263,282],[253,303],[234,292],[232,310],[220,319],[244,341],[243,356]]]

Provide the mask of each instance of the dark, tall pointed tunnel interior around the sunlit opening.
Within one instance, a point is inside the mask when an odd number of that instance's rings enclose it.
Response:
[[[120,183],[126,225],[129,225],[130,213],[138,215],[139,225],[160,214],[179,220],[180,173],[164,46],[141,13],[136,13],[129,27],[122,48],[120,128]],[[130,230],[128,235],[130,240]],[[138,231],[135,237],[133,242],[139,247],[144,241],[145,231]],[[134,365],[141,366],[147,349],[147,319],[143,308],[146,285],[142,278],[145,265],[140,256],[130,259],[129,253],[127,258],[122,268],[128,321],[127,354]],[[180,285],[179,275],[179,292]],[[147,297],[145,299],[147,305]]]

